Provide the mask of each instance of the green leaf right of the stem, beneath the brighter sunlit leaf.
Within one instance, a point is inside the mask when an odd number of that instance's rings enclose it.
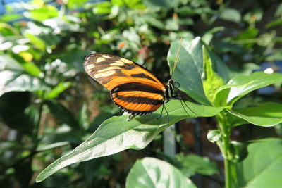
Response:
[[[265,103],[261,106],[243,108],[232,111],[229,117],[231,125],[238,126],[246,123],[252,123],[259,126],[274,126],[282,122],[282,104]]]

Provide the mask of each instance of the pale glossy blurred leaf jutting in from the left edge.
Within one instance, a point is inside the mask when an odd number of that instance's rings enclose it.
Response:
[[[0,80],[0,96],[7,92],[35,92],[48,88],[39,78],[20,71],[1,71]]]

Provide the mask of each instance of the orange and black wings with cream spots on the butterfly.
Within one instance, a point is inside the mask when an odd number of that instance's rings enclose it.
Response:
[[[111,54],[85,58],[85,71],[111,91],[114,104],[132,115],[146,115],[164,104],[166,87],[149,70]]]

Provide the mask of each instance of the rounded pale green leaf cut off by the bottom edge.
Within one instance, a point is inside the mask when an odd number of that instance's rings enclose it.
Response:
[[[157,158],[149,157],[135,162],[126,178],[125,187],[196,188],[195,184],[173,165]]]

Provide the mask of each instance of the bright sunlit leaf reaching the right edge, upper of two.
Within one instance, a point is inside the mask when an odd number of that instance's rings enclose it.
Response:
[[[242,96],[270,84],[282,82],[282,74],[256,72],[252,75],[238,75],[219,88],[214,101],[221,101],[222,106],[233,105]],[[218,102],[219,103],[219,102]]]

